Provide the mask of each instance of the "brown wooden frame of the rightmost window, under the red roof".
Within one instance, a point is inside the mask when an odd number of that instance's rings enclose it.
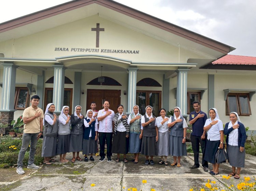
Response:
[[[226,99],[226,116],[229,116],[230,112],[230,109],[229,109],[229,101],[228,101],[228,97],[229,95],[235,95],[236,96],[236,102],[237,102],[237,111],[238,111],[238,115],[239,116],[250,116],[252,115],[252,110],[251,110],[251,105],[250,105],[250,98],[249,98],[249,93],[228,93],[227,94],[227,99]],[[248,114],[243,114],[241,111],[242,109],[240,108],[240,99],[239,99],[239,96],[240,95],[246,95],[247,96],[247,102],[248,102],[248,109],[249,109],[249,113]]]

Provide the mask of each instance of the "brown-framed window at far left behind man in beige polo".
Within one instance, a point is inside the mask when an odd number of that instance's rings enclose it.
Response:
[[[29,106],[29,93],[26,87],[15,88],[14,109],[26,109]]]

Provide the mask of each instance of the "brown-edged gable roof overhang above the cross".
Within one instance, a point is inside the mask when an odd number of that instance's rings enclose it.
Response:
[[[78,12],[78,10],[80,10],[79,13],[73,12],[73,11]],[[219,53],[215,53],[214,57],[219,57],[219,56],[222,56],[223,54],[227,54],[231,52],[232,50],[235,50],[235,48],[231,46],[225,45],[216,40],[207,38],[203,35],[189,31],[187,29],[184,29],[182,27],[179,27],[167,21],[158,19],[151,15],[145,14],[143,12],[140,12],[131,7],[125,6],[123,4],[117,3],[112,0],[73,0],[67,3],[54,6],[54,7],[47,8],[39,12],[35,12],[23,17],[6,21],[4,23],[0,23],[0,39],[7,40],[11,38],[18,38],[21,35],[24,35],[24,36],[29,35],[35,32],[39,32],[39,30],[43,31],[48,28],[52,28],[57,25],[64,24],[65,22],[66,23],[72,22],[73,21],[72,19],[75,19],[75,20],[81,19],[82,16],[86,17],[86,16],[95,15],[95,14],[99,14],[99,15],[102,14],[104,16],[104,14],[108,14],[110,13],[110,11],[111,11],[111,14],[113,14],[112,17],[108,16],[108,19],[110,20],[112,19],[116,21],[119,19],[118,21],[120,22],[130,22],[128,24],[132,25],[131,22],[134,21],[135,19],[137,21],[140,21],[140,23],[141,22],[146,23],[148,25],[151,25],[151,27],[156,27],[163,31],[167,31],[169,32],[169,34],[177,35],[184,39],[190,40],[196,44],[200,44],[211,50],[215,50],[219,52]],[[60,20],[60,15],[66,14],[68,12],[72,12],[72,18],[65,17],[65,15],[63,15],[62,20]],[[81,16],[81,13],[82,13],[82,16]],[[126,20],[124,19],[124,17],[119,18],[116,15],[117,13],[120,13],[123,16],[129,17],[129,18],[132,18],[132,20],[129,20],[129,19]],[[46,22],[48,18],[51,18],[51,22]],[[45,20],[43,24],[39,22],[39,21],[43,22],[43,20]],[[35,25],[34,23],[37,23],[37,22],[38,22],[38,25]],[[30,24],[33,24],[33,25],[30,25]],[[25,29],[24,26],[28,26],[28,25],[30,25],[30,28],[27,27]],[[143,28],[144,25],[141,26],[141,24],[137,24],[136,26],[141,27],[140,30],[146,30],[146,32],[151,31],[151,30],[148,30],[148,28],[144,29]],[[17,28],[19,28],[18,31],[15,30]],[[156,30],[154,32],[156,32]],[[154,36],[154,34],[152,34],[152,36]],[[162,38],[168,38],[166,37],[166,35],[159,35],[159,36],[161,36]],[[167,41],[168,40],[169,39],[167,39]],[[180,41],[182,44],[182,39],[177,40],[175,43],[179,44]],[[193,43],[192,45],[195,46]],[[198,47],[198,51],[202,51],[202,48]],[[205,54],[211,55],[209,53],[209,50],[206,51]]]

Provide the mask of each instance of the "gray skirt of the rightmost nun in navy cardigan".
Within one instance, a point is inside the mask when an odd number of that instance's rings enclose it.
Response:
[[[244,168],[245,150],[240,152],[240,146],[227,144],[228,162],[232,167]]]

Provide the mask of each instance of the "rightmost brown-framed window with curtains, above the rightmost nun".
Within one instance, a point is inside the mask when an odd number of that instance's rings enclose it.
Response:
[[[252,115],[249,93],[229,93],[226,100],[226,115],[237,112],[239,116]]]

